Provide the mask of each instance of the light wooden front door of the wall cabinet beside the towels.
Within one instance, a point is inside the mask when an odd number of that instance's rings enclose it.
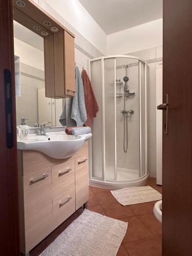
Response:
[[[75,47],[74,37],[67,31],[63,33],[64,37],[64,65],[65,65],[65,94],[75,96]]]

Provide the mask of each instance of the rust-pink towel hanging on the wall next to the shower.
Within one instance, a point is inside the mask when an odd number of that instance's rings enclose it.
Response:
[[[95,94],[93,92],[91,81],[86,70],[82,71],[81,77],[84,87],[84,101],[86,104],[87,112],[87,120],[85,124],[87,126],[91,126],[93,118],[96,117],[96,114],[99,111],[99,107],[95,98]]]

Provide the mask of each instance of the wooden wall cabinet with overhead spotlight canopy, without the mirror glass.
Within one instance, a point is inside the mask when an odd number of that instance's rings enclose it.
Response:
[[[75,35],[32,0],[23,3],[13,0],[14,19],[44,37],[46,97],[74,97]]]

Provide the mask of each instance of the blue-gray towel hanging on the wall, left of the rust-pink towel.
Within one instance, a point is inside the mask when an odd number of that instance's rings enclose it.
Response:
[[[84,103],[84,88],[81,74],[78,67],[75,67],[75,86],[76,95],[73,98],[71,118],[77,123],[77,126],[83,125],[87,120],[86,105]]]

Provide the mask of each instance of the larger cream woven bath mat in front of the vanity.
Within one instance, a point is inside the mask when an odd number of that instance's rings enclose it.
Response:
[[[85,209],[41,256],[115,256],[127,223]]]

